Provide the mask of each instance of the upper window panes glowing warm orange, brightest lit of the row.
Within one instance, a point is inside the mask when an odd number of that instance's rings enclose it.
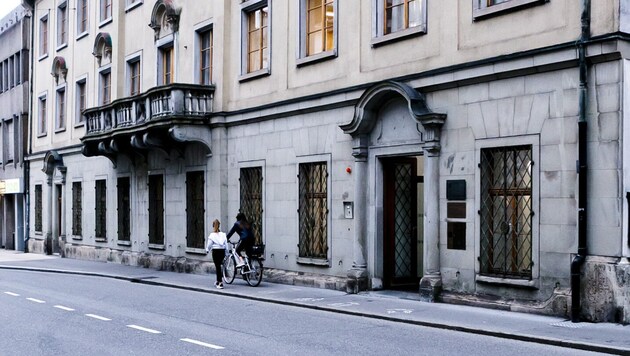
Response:
[[[336,47],[336,0],[302,0],[301,7],[300,57],[333,51]]]

